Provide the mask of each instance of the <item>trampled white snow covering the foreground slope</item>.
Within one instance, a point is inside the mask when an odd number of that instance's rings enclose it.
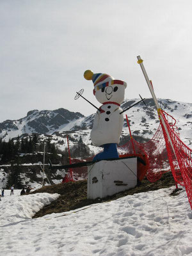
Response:
[[[192,212],[184,189],[125,196],[75,211],[31,219],[58,194],[19,196],[0,202],[3,256],[192,255]],[[16,195],[17,194],[17,195]]]

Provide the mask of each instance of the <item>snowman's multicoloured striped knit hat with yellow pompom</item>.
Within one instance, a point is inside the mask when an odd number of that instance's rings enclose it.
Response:
[[[109,76],[108,74],[102,74],[102,73],[97,73],[93,74],[92,70],[86,70],[84,72],[84,78],[86,80],[92,80],[93,81],[93,94],[95,95],[95,92],[97,90],[100,90],[106,86],[112,85],[112,84],[122,84],[127,87],[127,83],[121,80],[115,80],[112,76]]]

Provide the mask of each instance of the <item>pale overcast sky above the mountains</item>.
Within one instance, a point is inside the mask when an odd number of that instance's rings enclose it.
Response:
[[[32,109],[95,113],[84,70],[127,82],[126,99],[192,102],[191,0],[1,0],[0,122]]]

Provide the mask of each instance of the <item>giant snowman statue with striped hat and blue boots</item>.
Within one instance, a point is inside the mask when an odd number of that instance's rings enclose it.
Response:
[[[95,114],[91,140],[95,146],[103,147],[104,150],[93,161],[118,158],[117,144],[124,125],[120,104],[124,101],[127,83],[115,80],[108,74],[93,74],[92,70],[86,70],[84,78],[93,81],[93,94],[102,104]]]

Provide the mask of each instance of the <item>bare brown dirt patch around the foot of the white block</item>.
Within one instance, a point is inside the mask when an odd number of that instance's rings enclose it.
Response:
[[[161,188],[170,188],[173,185],[175,185],[175,181],[172,177],[172,173],[168,172],[164,173],[161,179],[155,183],[149,182],[147,179],[143,179],[141,181],[141,184],[139,186],[136,186],[135,188],[125,190],[113,196],[108,196],[102,199],[98,198],[95,200],[90,200],[86,198],[87,180],[45,186],[34,191],[33,193],[58,193],[60,194],[60,197],[51,204],[45,206],[39,212],[37,212],[33,218],[42,217],[46,214],[51,214],[53,212],[58,213],[71,211],[90,204],[98,204],[100,202],[116,200],[117,198],[120,198],[122,196],[133,195],[135,193],[153,191]]]

